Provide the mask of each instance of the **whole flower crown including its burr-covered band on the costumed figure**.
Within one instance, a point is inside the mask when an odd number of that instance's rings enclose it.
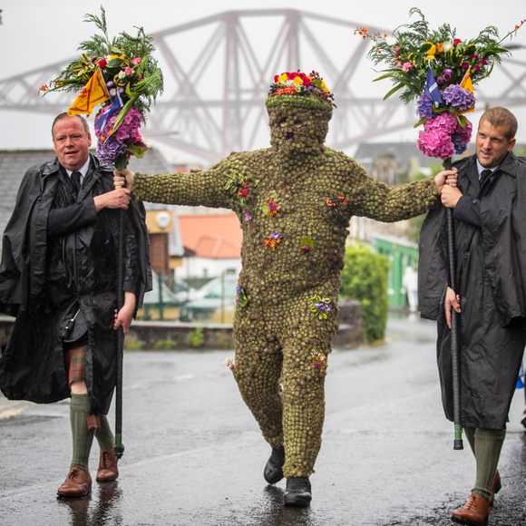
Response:
[[[330,93],[325,81],[317,72],[308,75],[301,72],[281,73],[274,75],[274,82],[268,90],[267,105],[274,106],[276,102],[297,102],[302,106],[326,107],[334,106],[334,95]]]

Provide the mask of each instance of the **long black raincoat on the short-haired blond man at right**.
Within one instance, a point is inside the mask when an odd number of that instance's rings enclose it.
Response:
[[[526,160],[509,153],[482,185],[476,157],[455,166],[464,196],[453,210],[461,424],[502,429],[526,344]],[[453,421],[451,331],[443,312],[448,265],[446,209],[439,205],[420,234],[419,309],[438,322],[443,408]]]

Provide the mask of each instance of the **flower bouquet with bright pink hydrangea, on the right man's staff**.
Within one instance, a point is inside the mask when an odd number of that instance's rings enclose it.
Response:
[[[395,29],[392,43],[387,42],[387,34],[372,34],[365,27],[355,33],[373,41],[368,54],[372,62],[387,65],[375,79],[390,79],[395,84],[384,99],[397,92],[403,102],[417,99],[419,120],[414,126],[424,125],[418,136],[419,150],[428,157],[448,159],[453,153],[463,153],[471,139],[472,123],[465,113],[475,108],[473,86],[510,53],[502,42],[526,21],[521,20],[500,40],[493,26],[472,40],[462,40],[449,24],[431,30],[416,7],[409,15],[417,15],[418,20]]]

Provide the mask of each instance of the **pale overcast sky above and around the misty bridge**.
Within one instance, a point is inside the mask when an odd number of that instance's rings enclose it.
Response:
[[[146,33],[154,33],[224,11],[271,7],[294,8],[394,29],[409,21],[409,9],[416,6],[432,27],[447,22],[457,28],[463,39],[473,38],[487,25],[497,26],[503,36],[526,18],[523,0],[0,0],[0,80],[74,56],[79,42],[94,32],[93,24],[83,22],[84,15],[98,15],[101,4],[106,9],[111,35],[122,30],[134,33],[133,26],[138,25]],[[322,40],[331,38],[331,34],[318,36]],[[356,37],[349,34],[351,38]],[[526,24],[514,43],[526,48]],[[514,56],[526,61],[526,49]],[[526,82],[522,85],[526,89]],[[516,113],[520,118],[518,138],[526,141],[524,112]],[[49,116],[36,118],[22,112],[0,111],[0,120],[0,148],[50,146]]]

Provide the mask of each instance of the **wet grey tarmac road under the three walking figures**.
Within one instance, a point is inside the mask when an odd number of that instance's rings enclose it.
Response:
[[[70,460],[69,403],[0,397],[0,524],[449,525],[472,488],[467,441],[453,451],[434,360],[434,326],[391,320],[389,343],[329,358],[324,443],[307,510],[284,509],[268,486],[269,447],[242,403],[231,351],[128,352],[117,482],[57,500]],[[502,492],[490,525],[526,524],[523,391],[511,406]],[[94,444],[91,471],[98,462]]]

